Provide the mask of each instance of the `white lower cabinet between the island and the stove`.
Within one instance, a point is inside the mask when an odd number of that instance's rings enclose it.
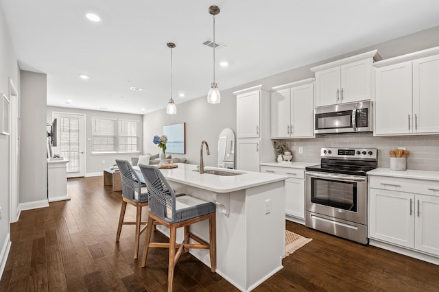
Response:
[[[285,214],[305,221],[305,169],[261,166],[261,172],[288,175],[285,180]],[[287,217],[287,219],[292,219]]]

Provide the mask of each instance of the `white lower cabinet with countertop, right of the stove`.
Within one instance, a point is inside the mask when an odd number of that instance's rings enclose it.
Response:
[[[369,176],[369,237],[439,256],[439,182]]]

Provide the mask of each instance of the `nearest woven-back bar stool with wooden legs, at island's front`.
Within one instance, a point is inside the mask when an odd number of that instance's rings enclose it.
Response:
[[[182,250],[189,252],[191,248],[206,249],[210,252],[211,271],[216,270],[216,206],[211,202],[203,201],[189,195],[176,195],[160,170],[153,166],[140,165],[145,179],[150,212],[148,215],[147,232],[141,266],[145,267],[147,253],[150,247],[169,248],[169,266],[167,278],[167,291],[172,291],[174,285],[174,268]],[[198,236],[191,234],[189,226],[209,219],[209,243]],[[157,221],[169,228],[169,243],[150,243],[152,223]],[[176,243],[177,228],[185,228],[185,239]],[[197,243],[189,243],[193,239]],[[176,251],[176,249],[178,249]]]

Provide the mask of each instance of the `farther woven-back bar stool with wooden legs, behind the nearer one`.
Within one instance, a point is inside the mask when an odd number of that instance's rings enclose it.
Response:
[[[134,237],[134,258],[139,254],[139,238],[146,229],[146,221],[141,221],[142,208],[148,206],[148,196],[145,184],[142,184],[136,171],[132,169],[130,162],[127,160],[116,160],[117,167],[121,173],[122,179],[122,206],[117,226],[116,241],[119,241],[123,225],[136,225],[136,235]],[[136,221],[123,221],[125,217],[126,205],[130,204],[136,207]],[[141,228],[141,225],[145,225]]]

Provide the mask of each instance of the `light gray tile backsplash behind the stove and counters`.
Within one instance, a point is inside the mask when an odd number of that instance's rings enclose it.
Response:
[[[322,147],[377,148],[378,167],[390,167],[389,150],[410,151],[407,169],[439,171],[439,135],[374,137],[372,134],[318,135],[316,138],[281,140],[287,142],[297,162],[320,163]],[[303,147],[299,154],[298,147]]]

